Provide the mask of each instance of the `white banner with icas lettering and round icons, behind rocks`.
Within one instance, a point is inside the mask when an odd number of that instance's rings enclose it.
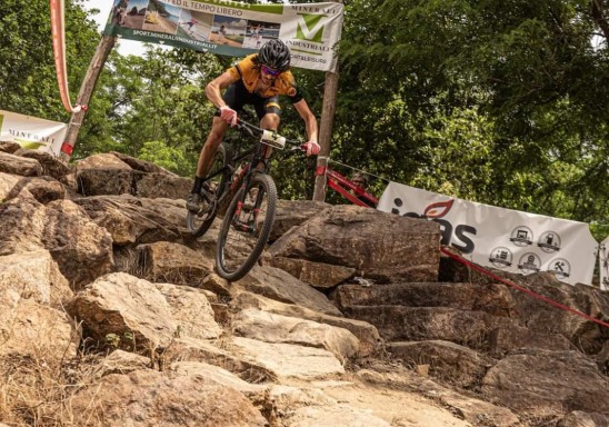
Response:
[[[442,245],[471,261],[530,275],[551,271],[566,284],[591,285],[597,241],[587,224],[476,203],[390,182],[379,210],[440,225]]]

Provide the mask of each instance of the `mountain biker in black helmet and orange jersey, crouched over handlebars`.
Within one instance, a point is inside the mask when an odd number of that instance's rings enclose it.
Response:
[[[213,155],[229,125],[237,125],[238,113],[244,105],[253,106],[260,128],[276,131],[281,115],[279,96],[287,96],[304,121],[308,142],[302,147],[307,156],[319,153],[317,119],[296,87],[289,69],[290,50],[281,40],[273,39],[264,43],[258,53],[246,57],[207,85],[206,96],[219,111],[213,117],[211,131],[199,156],[194,186],[188,196],[188,210],[199,211],[201,187],[211,169]],[[223,89],[227,90],[222,96]]]

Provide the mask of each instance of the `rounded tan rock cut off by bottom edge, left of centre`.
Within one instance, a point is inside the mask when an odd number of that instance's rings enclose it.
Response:
[[[79,391],[71,404],[74,425],[82,427],[100,419],[104,426],[133,427],[267,425],[242,394],[201,375],[112,374]]]

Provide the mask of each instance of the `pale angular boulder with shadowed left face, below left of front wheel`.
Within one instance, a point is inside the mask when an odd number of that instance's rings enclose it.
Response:
[[[217,338],[220,334],[203,294],[159,288],[123,272],[96,280],[76,296],[68,311],[82,322],[92,344],[152,356],[180,336]]]

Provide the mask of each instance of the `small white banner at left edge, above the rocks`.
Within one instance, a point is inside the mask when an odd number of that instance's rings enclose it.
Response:
[[[59,156],[68,125],[0,110],[0,141]]]

